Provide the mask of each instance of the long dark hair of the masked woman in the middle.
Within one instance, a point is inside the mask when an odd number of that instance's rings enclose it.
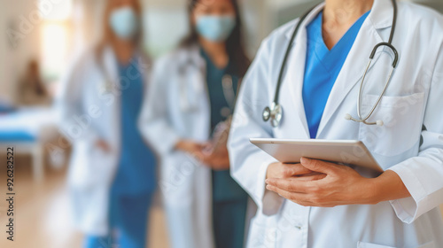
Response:
[[[192,12],[195,7],[199,4],[199,1],[203,0],[189,0],[188,12],[189,12],[189,23],[190,23],[190,34],[186,36],[182,43],[182,47],[189,47],[191,45],[198,43],[197,30],[192,24]],[[213,0],[214,1],[214,0]],[[251,65],[251,60],[247,57],[245,52],[244,37],[242,33],[242,20],[240,18],[240,11],[237,4],[237,0],[229,0],[234,6],[236,12],[236,27],[232,30],[226,40],[226,50],[228,52],[230,60],[229,73],[235,74],[238,77],[243,77],[246,74],[248,67]]]

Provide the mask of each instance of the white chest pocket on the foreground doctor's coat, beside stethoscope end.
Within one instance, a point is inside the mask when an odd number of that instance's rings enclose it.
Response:
[[[376,95],[365,95],[361,115],[365,117],[377,102]],[[370,122],[382,120],[383,126],[360,124],[360,140],[369,151],[385,157],[398,156],[419,141],[424,116],[424,93],[405,97],[382,97]]]

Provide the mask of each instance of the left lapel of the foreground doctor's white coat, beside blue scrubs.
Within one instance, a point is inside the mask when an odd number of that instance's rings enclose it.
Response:
[[[282,91],[285,91],[287,87],[290,94],[292,103],[295,106],[295,112],[288,112],[291,108],[284,108],[284,114],[296,114],[298,116],[298,120],[303,127],[303,132],[305,137],[308,139],[309,136],[309,128],[307,127],[307,118],[305,113],[305,105],[303,104],[302,97],[302,89],[303,82],[305,80],[305,65],[306,65],[306,56],[307,56],[307,31],[306,26],[308,23],[315,18],[315,16],[323,10],[324,4],[320,4],[315,9],[309,13],[307,18],[303,21],[301,27],[299,28],[299,33],[292,43],[292,50],[289,56],[288,65],[285,66],[284,70],[286,71],[286,77],[284,78]],[[294,31],[295,27],[291,28],[291,31],[286,33],[286,37],[291,39],[291,35]]]

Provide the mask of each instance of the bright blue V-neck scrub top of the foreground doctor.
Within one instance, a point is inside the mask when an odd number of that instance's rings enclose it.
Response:
[[[369,12],[362,15],[331,50],[323,41],[323,12],[307,25],[307,58],[302,96],[309,135],[313,139],[317,136],[330,90],[368,15]]]

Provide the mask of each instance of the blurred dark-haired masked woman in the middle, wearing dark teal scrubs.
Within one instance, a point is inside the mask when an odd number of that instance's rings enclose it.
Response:
[[[153,69],[141,130],[159,145],[172,247],[243,247],[248,197],[226,136],[245,55],[235,0],[190,1],[190,35]]]

